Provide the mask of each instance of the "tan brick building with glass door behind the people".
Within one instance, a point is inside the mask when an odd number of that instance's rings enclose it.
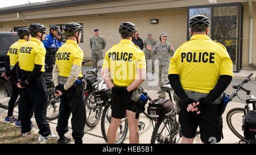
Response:
[[[0,31],[16,30],[37,22],[47,28],[57,24],[62,30],[65,23],[81,23],[84,32],[80,47],[84,56],[90,58],[89,39],[94,28],[99,28],[100,35],[106,39],[104,52],[121,39],[118,27],[122,22],[136,24],[142,40],[151,32],[159,41],[160,33],[167,32],[167,41],[177,49],[189,40],[187,22],[195,14],[208,16],[212,23],[209,36],[213,40],[225,44],[230,35],[233,44],[229,52],[234,72],[254,69],[256,2],[252,0],[53,0],[1,8]]]

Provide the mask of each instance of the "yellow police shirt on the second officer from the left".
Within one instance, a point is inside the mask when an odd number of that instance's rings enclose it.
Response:
[[[36,65],[42,65],[41,72],[44,72],[44,59],[46,57],[46,48],[39,39],[31,37],[30,41],[24,43],[19,49],[18,61],[20,69],[30,71]]]

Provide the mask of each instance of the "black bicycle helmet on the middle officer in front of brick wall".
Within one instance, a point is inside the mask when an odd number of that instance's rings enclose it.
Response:
[[[137,32],[137,27],[135,26],[134,23],[125,22],[125,23],[122,23],[119,27],[119,33],[123,37],[131,36],[135,32]]]

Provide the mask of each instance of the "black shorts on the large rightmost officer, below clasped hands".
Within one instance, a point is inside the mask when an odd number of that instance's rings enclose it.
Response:
[[[196,130],[199,126],[200,139],[203,143],[218,143],[222,137],[222,118],[218,115],[219,104],[213,104],[208,110],[201,114],[191,114],[181,110],[179,122],[181,132],[184,137],[192,139],[196,136]]]

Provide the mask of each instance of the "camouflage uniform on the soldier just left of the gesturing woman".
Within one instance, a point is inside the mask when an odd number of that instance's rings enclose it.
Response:
[[[153,38],[151,38],[151,40],[150,40],[150,39],[146,39],[146,40],[144,41],[145,59],[146,59],[146,63],[148,63],[147,60],[152,60],[152,61],[151,61],[151,63],[152,63],[152,73],[154,72],[154,68],[155,68],[155,65],[154,65],[155,54],[152,52],[152,50],[149,51],[149,50],[147,49],[147,45],[149,45],[149,46],[151,45],[151,48],[153,48],[156,44],[157,44],[157,43],[156,43],[155,39],[153,39]],[[148,65],[148,64],[147,64],[147,65]]]

